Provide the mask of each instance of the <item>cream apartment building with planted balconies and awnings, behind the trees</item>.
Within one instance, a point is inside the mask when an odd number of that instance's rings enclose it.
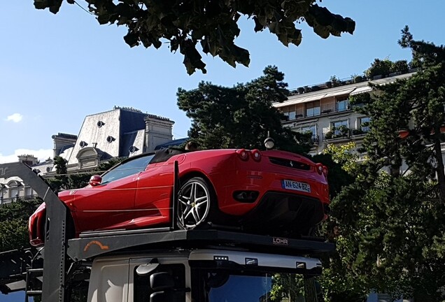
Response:
[[[283,103],[274,103],[287,117],[283,126],[294,131],[310,132],[313,148],[310,154],[319,154],[327,144],[341,144],[355,142],[360,147],[363,137],[369,130],[369,117],[355,113],[351,107],[349,97],[354,94],[370,92],[369,82],[385,85],[397,79],[408,78],[413,73],[391,75],[376,80],[349,80],[338,82],[337,87],[332,83],[314,85],[313,90],[302,90],[288,97]],[[331,84],[331,85],[330,85]],[[307,88],[307,87],[306,87]]]

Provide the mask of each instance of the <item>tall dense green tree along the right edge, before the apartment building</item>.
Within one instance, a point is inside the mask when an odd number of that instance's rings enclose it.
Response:
[[[443,301],[445,49],[414,41],[408,28],[400,45],[413,51],[417,73],[354,100],[370,117],[368,161],[332,202],[335,240],[346,247],[337,252],[365,289]]]

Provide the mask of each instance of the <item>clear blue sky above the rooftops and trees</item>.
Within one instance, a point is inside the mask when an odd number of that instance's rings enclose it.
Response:
[[[85,3],[79,1],[83,6]],[[78,134],[85,115],[129,106],[175,121],[174,138],[187,136],[190,120],[176,106],[178,87],[200,81],[232,86],[262,75],[267,65],[285,73],[290,88],[325,82],[331,75],[361,74],[374,61],[410,59],[397,45],[408,24],[416,39],[444,44],[445,1],[324,0],[333,13],[353,18],[353,35],[322,39],[305,24],[299,47],[281,45],[268,31],[255,34],[242,20],[237,45],[251,63],[236,69],[204,57],[207,73],[188,75],[180,54],[129,48],[124,27],[99,26],[94,16],[64,2],[60,12],[36,10],[32,1],[1,1],[0,162],[18,154],[52,156],[53,134]]]

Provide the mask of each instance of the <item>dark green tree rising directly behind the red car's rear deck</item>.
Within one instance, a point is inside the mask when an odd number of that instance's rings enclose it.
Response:
[[[192,120],[188,135],[206,149],[264,149],[269,133],[276,148],[307,152],[310,136],[283,127],[283,113],[272,106],[287,99],[283,79],[283,73],[268,66],[263,76],[246,84],[221,87],[201,82],[194,90],[178,89],[178,107]]]

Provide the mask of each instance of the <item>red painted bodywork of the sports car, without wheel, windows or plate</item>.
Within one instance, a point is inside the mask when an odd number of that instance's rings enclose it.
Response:
[[[318,203],[321,215],[323,206],[330,203],[327,177],[318,166],[298,154],[278,150],[260,152],[255,160],[253,152],[241,159],[234,149],[202,150],[169,157],[166,161],[150,162],[145,168],[123,178],[110,175],[127,173],[127,166],[138,161],[151,160],[153,154],[143,154],[115,166],[102,175],[109,182],[81,189],[59,192],[59,199],[69,208],[76,236],[83,231],[138,229],[171,224],[171,207],[174,182],[174,162],[178,161],[181,180],[200,176],[211,184],[218,202],[218,210],[225,215],[243,217],[257,208],[263,199],[274,202],[298,199]],[[147,161],[148,162],[148,161]],[[120,172],[122,171],[122,172]],[[114,173],[114,174],[113,174]],[[293,181],[309,189],[295,190],[283,187],[283,181]],[[298,185],[297,183],[297,185]],[[236,192],[257,192],[255,201],[240,202]],[[255,193],[256,194],[256,193]],[[269,196],[269,197],[268,197]],[[283,196],[283,198],[281,198]],[[293,201],[290,201],[292,203]],[[320,210],[318,210],[320,212]],[[43,243],[44,205],[31,215],[29,237],[31,243]],[[318,222],[320,213],[317,214]],[[40,240],[40,241],[39,241]]]

